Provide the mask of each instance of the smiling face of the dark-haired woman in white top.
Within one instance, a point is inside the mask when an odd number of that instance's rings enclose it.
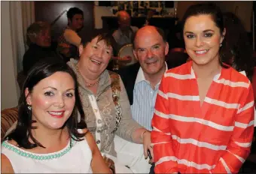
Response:
[[[26,89],[26,102],[32,106],[36,126],[59,129],[66,123],[75,106],[75,83],[65,72],[41,80],[32,93]]]

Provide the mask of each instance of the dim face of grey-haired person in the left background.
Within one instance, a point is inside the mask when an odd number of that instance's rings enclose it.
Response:
[[[51,45],[50,28],[40,31],[35,37],[38,46],[49,47]]]

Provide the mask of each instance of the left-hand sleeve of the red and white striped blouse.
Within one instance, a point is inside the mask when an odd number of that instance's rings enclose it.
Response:
[[[167,86],[169,86],[168,80],[163,77],[152,119],[151,142],[154,145],[154,172],[156,173],[178,172],[178,163],[172,150],[172,137],[169,129]]]

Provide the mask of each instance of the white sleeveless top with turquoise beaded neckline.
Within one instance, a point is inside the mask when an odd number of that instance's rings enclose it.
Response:
[[[70,146],[72,145],[72,147]],[[71,139],[60,151],[50,154],[35,154],[2,142],[2,154],[11,161],[14,172],[22,173],[92,173],[90,166],[92,151],[84,139],[80,142]]]

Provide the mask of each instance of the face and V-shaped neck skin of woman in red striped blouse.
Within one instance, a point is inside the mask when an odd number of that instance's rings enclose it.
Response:
[[[203,14],[187,18],[183,34],[187,54],[193,61],[192,67],[197,75],[202,105],[213,77],[221,72],[218,59],[225,30],[221,33],[220,28],[212,20],[212,16]],[[203,53],[198,51],[203,51]]]

